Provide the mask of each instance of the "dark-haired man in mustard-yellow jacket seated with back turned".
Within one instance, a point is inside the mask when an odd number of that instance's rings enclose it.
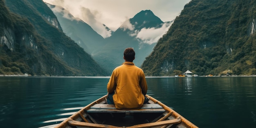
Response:
[[[113,70],[109,79],[108,104],[115,104],[117,109],[139,109],[148,102],[145,97],[148,85],[143,70],[133,63],[133,48],[124,50],[125,62]]]

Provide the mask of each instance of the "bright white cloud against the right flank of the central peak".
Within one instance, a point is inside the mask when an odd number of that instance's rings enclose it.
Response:
[[[172,24],[173,22],[165,22],[161,28],[143,28],[140,31],[135,31],[135,33],[137,33],[136,38],[140,39],[142,43],[147,43],[150,45],[157,43],[159,38],[161,38],[168,31]]]

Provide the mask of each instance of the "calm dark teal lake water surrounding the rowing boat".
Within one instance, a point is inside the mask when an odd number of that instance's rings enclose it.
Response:
[[[105,95],[108,79],[0,77],[0,127],[51,128]],[[256,128],[256,77],[146,80],[149,95],[200,128]]]

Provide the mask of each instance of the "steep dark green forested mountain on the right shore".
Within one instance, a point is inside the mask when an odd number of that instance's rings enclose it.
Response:
[[[147,76],[256,74],[256,0],[191,0],[141,68]]]

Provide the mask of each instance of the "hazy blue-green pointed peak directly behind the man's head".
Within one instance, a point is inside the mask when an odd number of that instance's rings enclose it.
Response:
[[[124,49],[133,47],[135,49],[135,65],[140,66],[148,56],[153,47],[172,22],[162,22],[150,10],[137,13],[133,18],[124,22],[109,38],[105,39],[102,47],[96,47],[92,57],[108,72],[124,62]],[[163,29],[164,28],[164,29]],[[159,29],[161,29],[159,31]],[[165,30],[166,29],[166,30]],[[157,33],[153,33],[157,31]],[[150,33],[151,32],[151,33]],[[154,35],[155,34],[155,35]],[[154,35],[154,36],[150,36]]]

